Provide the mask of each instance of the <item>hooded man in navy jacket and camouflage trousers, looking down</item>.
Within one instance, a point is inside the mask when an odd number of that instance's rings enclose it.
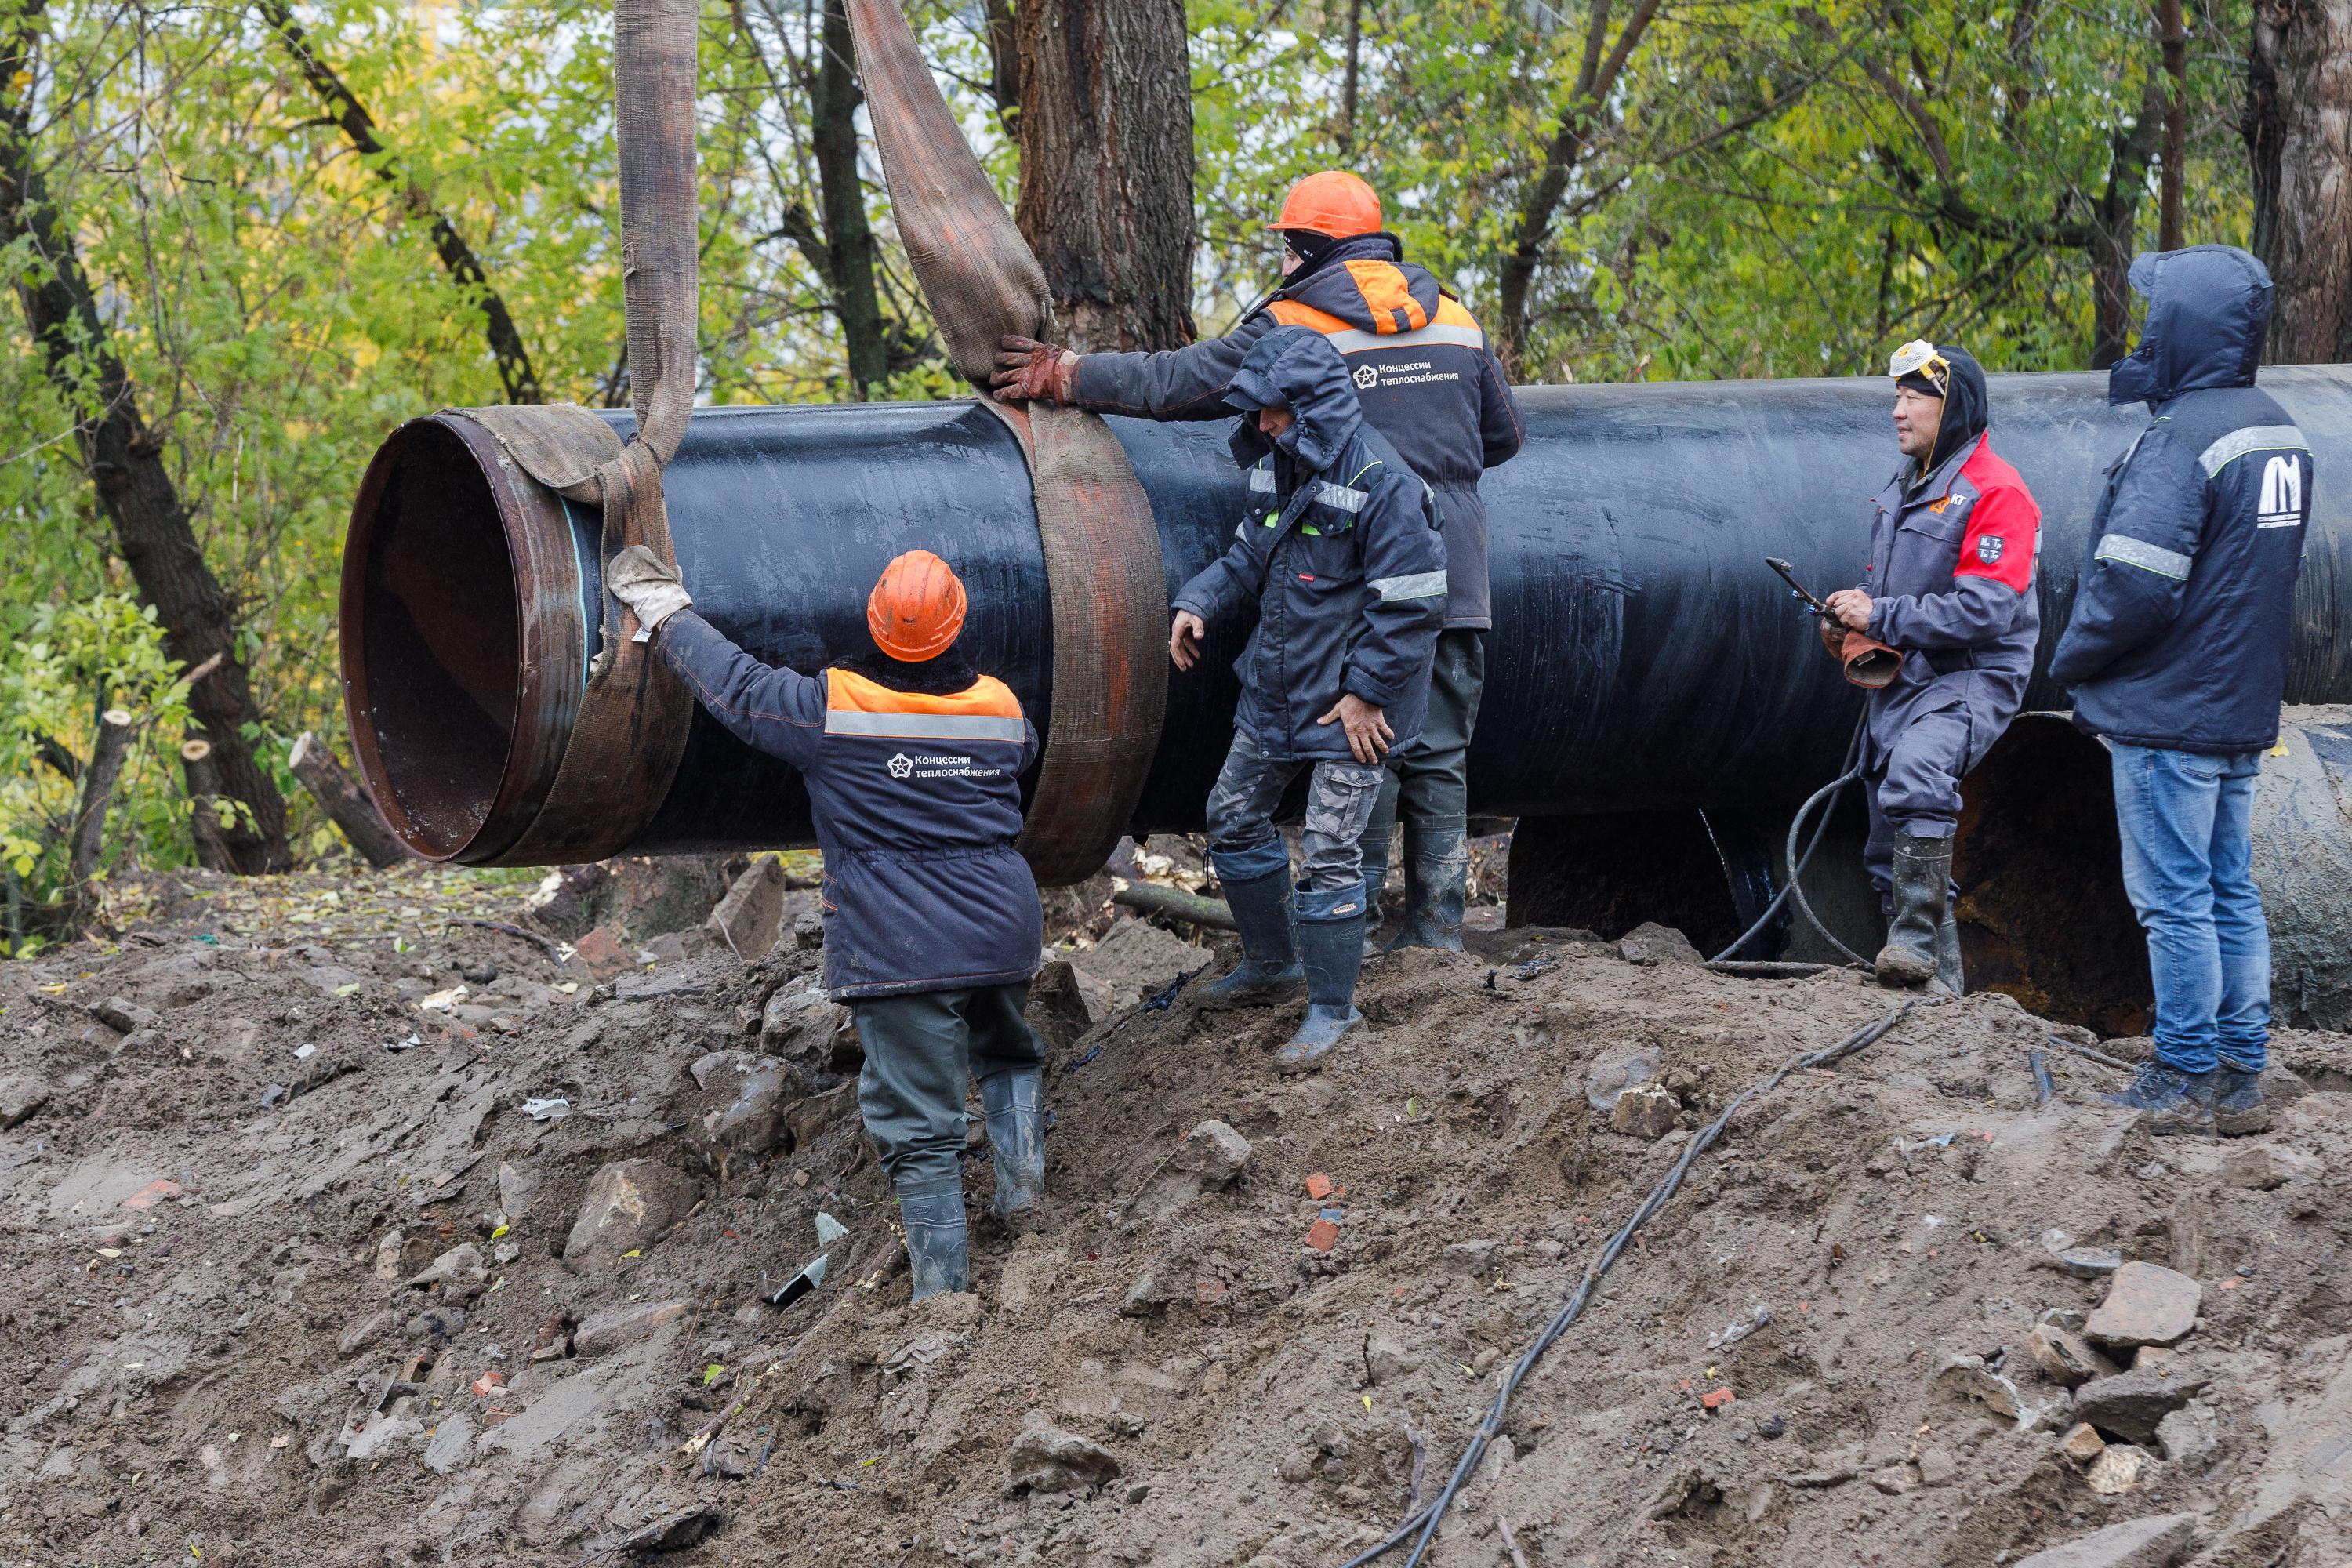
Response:
[[[1430,705],[1430,654],[1446,604],[1437,498],[1364,423],[1355,383],[1319,331],[1277,327],[1232,371],[1232,454],[1249,512],[1225,555],[1176,592],[1169,656],[1200,658],[1211,621],[1251,602],[1258,628],[1235,663],[1232,750],[1209,792],[1209,858],[1242,933],[1242,964],[1211,1001],[1308,990],[1275,1065],[1315,1065],[1357,1023],[1364,957],[1364,823],[1383,759],[1411,745]],[[1305,863],[1275,830],[1282,790],[1312,769]]]

